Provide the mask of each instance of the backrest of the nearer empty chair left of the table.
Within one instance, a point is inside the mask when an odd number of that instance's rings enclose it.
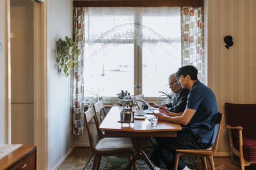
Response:
[[[88,132],[88,138],[89,138],[89,142],[90,142],[90,146],[92,148],[92,151],[95,150],[95,145],[93,143],[93,136],[92,136],[92,132],[90,131],[90,126],[89,126],[89,122],[92,120],[92,118],[94,118],[94,120],[96,121],[96,117],[95,117],[95,113],[93,108],[88,109],[87,111],[84,112],[84,120],[85,120],[85,124],[86,124],[86,129]]]

